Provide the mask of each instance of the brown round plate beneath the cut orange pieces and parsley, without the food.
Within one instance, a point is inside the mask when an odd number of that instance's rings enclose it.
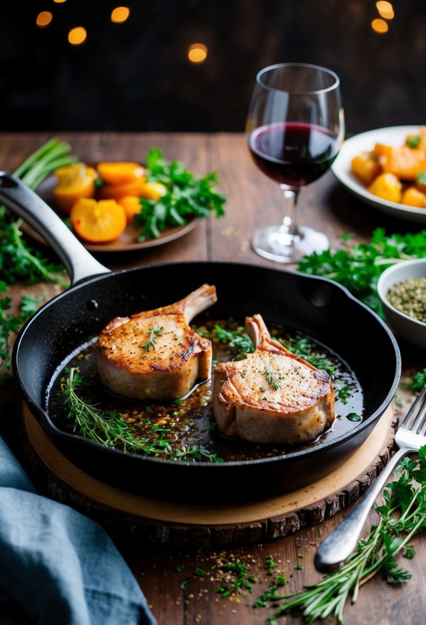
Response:
[[[47,176],[44,181],[36,189],[37,194],[44,199],[49,206],[51,206],[55,211],[55,202],[53,197],[53,190],[57,184],[56,176]],[[61,217],[64,215],[60,211],[56,211]],[[166,227],[161,231],[160,236],[157,239],[148,239],[147,241],[137,242],[136,237],[141,231],[140,228],[137,228],[133,224],[127,224],[126,230],[119,236],[115,241],[111,241],[110,243],[86,243],[81,241],[84,247],[91,252],[125,252],[132,251],[137,249],[144,249],[146,247],[155,247],[157,245],[162,245],[164,243],[168,243],[169,241],[174,241],[174,239],[179,239],[179,237],[184,236],[187,232],[191,231],[194,227],[196,227],[198,220],[194,217],[184,226],[176,226],[176,227]],[[46,243],[42,237],[37,234],[31,227],[27,224],[22,225],[22,229],[29,234],[33,239],[40,241],[42,243]]]

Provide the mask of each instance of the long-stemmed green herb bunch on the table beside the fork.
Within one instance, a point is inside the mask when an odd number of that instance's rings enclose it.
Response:
[[[381,572],[388,584],[402,584],[411,577],[398,566],[396,556],[414,557],[410,544],[416,532],[426,527],[426,446],[419,459],[404,457],[397,467],[399,479],[387,484],[384,504],[374,506],[380,519],[370,528],[367,538],[359,541],[355,552],[340,571],[325,575],[313,586],[284,597],[285,602],[270,619],[283,614],[302,614],[305,622],[334,617],[343,625],[343,610],[348,597],[357,601],[359,587]]]

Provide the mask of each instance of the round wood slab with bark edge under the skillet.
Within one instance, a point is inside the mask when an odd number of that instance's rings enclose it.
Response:
[[[63,456],[29,409],[22,409],[27,441],[49,496],[111,529],[141,538],[191,544],[259,542],[292,534],[330,518],[355,501],[389,461],[396,417],[390,406],[367,441],[338,469],[313,484],[278,497],[235,504],[179,504],[121,491],[89,476]]]

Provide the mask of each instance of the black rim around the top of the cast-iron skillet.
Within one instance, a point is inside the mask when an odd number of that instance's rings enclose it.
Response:
[[[316,455],[322,454],[322,452],[324,451],[329,451],[330,449],[333,449],[334,447],[340,446],[341,444],[343,444],[345,441],[349,440],[350,438],[357,436],[357,434],[359,434],[360,431],[367,429],[368,427],[373,427],[378,421],[378,419],[382,416],[382,414],[384,414],[385,410],[387,409],[390,402],[392,401],[392,398],[395,396],[395,392],[397,391],[397,387],[398,387],[401,372],[402,372],[402,361],[401,361],[399,345],[394,337],[394,334],[392,334],[387,324],[379,317],[379,315],[375,311],[373,311],[371,308],[369,308],[369,306],[367,306],[366,304],[361,302],[359,299],[357,299],[357,297],[352,295],[352,293],[350,293],[350,291],[346,287],[342,286],[342,284],[339,284],[339,282],[335,282],[329,278],[322,277],[322,276],[312,276],[310,274],[304,274],[298,271],[291,271],[289,269],[282,269],[279,267],[269,267],[265,265],[250,263],[249,266],[252,266],[256,269],[262,269],[262,271],[269,271],[269,272],[272,271],[276,274],[283,274],[283,273],[293,274],[294,276],[297,276],[297,278],[301,279],[302,281],[304,279],[306,280],[313,279],[316,281],[330,284],[332,288],[342,291],[345,297],[352,300],[352,302],[354,302],[355,305],[360,306],[361,308],[365,309],[365,311],[367,311],[368,314],[372,315],[375,321],[379,322],[380,326],[382,326],[382,329],[385,331],[388,338],[390,339],[390,343],[392,344],[392,347],[394,348],[396,367],[395,367],[394,380],[392,382],[392,385],[390,386],[387,396],[385,397],[384,401],[382,401],[380,406],[374,412],[372,412],[372,414],[370,414],[366,419],[361,421],[358,426],[355,426],[354,428],[350,429],[349,431],[345,432],[344,434],[342,434],[341,436],[335,439],[332,439],[328,442],[324,441],[323,444],[316,444],[316,445],[313,445],[312,447],[307,447],[306,449],[300,449],[299,451],[289,452],[289,453],[285,453],[285,454],[278,455],[278,456],[249,459],[249,460],[230,461],[230,462],[199,462],[199,461],[177,462],[176,460],[169,460],[165,458],[157,458],[157,457],[152,457],[152,456],[144,456],[143,454],[131,454],[131,452],[124,452],[121,449],[117,449],[117,447],[105,447],[94,441],[91,441],[91,439],[87,439],[84,436],[80,436],[79,434],[73,434],[71,432],[64,432],[63,430],[59,429],[52,421],[48,412],[44,408],[36,404],[36,402],[32,401],[31,397],[26,391],[26,388],[24,387],[24,384],[22,383],[22,379],[19,374],[19,364],[17,362],[17,360],[19,359],[19,349],[21,347],[21,342],[24,341],[24,336],[27,330],[29,329],[29,327],[31,327],[35,319],[39,317],[41,314],[44,314],[44,312],[50,306],[52,306],[57,301],[62,299],[62,297],[72,296],[72,293],[77,291],[77,289],[79,289],[80,287],[88,286],[89,284],[95,284],[96,282],[108,279],[108,277],[113,277],[113,276],[117,276],[120,274],[129,274],[134,271],[145,271],[147,269],[151,269],[154,267],[176,266],[177,264],[181,266],[184,266],[184,265],[186,266],[208,265],[208,266],[228,266],[228,267],[231,266],[231,267],[234,267],[235,269],[237,269],[238,267],[247,268],[248,266],[247,263],[234,262],[234,261],[207,261],[206,260],[206,261],[158,262],[158,263],[144,265],[144,266],[129,267],[127,269],[118,269],[117,271],[109,271],[104,274],[94,274],[93,276],[85,277],[84,279],[79,280],[75,284],[72,284],[69,287],[69,289],[66,289],[66,291],[62,291],[57,296],[53,297],[51,300],[46,302],[21,328],[21,330],[19,331],[19,334],[16,337],[16,341],[14,342],[14,346],[12,349],[12,371],[14,373],[14,379],[15,379],[17,386],[19,387],[19,390],[24,396],[24,399],[27,405],[30,407],[31,412],[35,411],[38,416],[36,415],[34,416],[36,416],[37,419],[41,417],[44,420],[45,424],[47,424],[48,429],[52,429],[56,437],[66,442],[71,442],[72,444],[74,444],[74,441],[78,441],[79,444],[82,444],[83,446],[87,446],[89,447],[89,449],[96,449],[97,451],[103,452],[105,454],[112,453],[113,455],[116,455],[116,456],[118,455],[118,456],[127,457],[127,458],[131,456],[132,458],[135,459],[134,460],[135,462],[154,462],[154,464],[161,464],[162,466],[170,465],[170,466],[175,466],[175,467],[177,465],[179,466],[182,465],[182,466],[187,466],[187,467],[191,467],[191,466],[203,467],[203,469],[205,470],[206,467],[213,467],[213,466],[236,467],[236,466],[242,466],[242,465],[247,465],[247,464],[249,464],[250,466],[255,466],[256,464],[269,464],[273,462],[297,461],[297,459],[300,459],[306,456],[315,457]],[[364,441],[361,441],[360,444],[362,444],[362,442]],[[214,469],[214,470],[216,471],[218,469]]]

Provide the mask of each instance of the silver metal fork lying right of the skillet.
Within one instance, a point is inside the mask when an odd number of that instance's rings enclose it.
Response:
[[[359,534],[364,525],[370,507],[375,498],[387,484],[392,469],[409,452],[419,451],[426,444],[426,384],[407,412],[395,434],[399,449],[390,459],[377,480],[361,497],[357,505],[344,517],[339,525],[320,544],[315,554],[314,564],[317,571],[330,573],[339,571],[357,546]]]

